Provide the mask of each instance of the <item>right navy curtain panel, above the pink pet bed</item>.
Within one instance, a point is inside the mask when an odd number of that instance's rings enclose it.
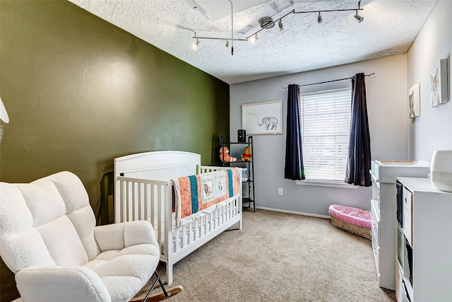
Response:
[[[364,74],[356,74],[352,78],[350,144],[345,182],[350,185],[370,187],[372,185],[370,169],[370,134],[367,118],[366,84],[364,83]]]

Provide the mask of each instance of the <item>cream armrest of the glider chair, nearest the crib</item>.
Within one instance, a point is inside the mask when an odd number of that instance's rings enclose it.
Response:
[[[158,248],[154,228],[149,221],[144,220],[96,226],[94,237],[102,252],[138,244],[152,244]]]

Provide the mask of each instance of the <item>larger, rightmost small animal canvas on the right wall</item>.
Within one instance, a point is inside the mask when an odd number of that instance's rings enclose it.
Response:
[[[448,102],[448,60],[441,59],[430,73],[430,106],[438,107]]]

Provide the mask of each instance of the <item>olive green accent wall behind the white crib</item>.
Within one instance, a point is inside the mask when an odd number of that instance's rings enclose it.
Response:
[[[69,170],[97,211],[113,159],[179,150],[217,164],[229,85],[69,1],[0,1],[0,179]],[[187,49],[187,52],[191,50]]]

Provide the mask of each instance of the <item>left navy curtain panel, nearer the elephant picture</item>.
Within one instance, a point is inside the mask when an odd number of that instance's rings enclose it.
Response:
[[[304,180],[302,129],[299,118],[299,86],[290,84],[287,91],[284,178],[289,180]]]

